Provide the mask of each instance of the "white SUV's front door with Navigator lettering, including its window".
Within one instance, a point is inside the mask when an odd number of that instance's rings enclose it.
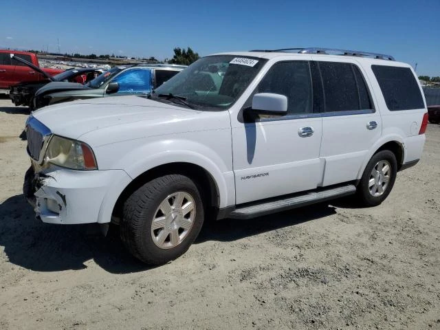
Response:
[[[232,120],[236,204],[316,188],[322,181],[322,118],[314,113],[309,61],[283,61],[265,74],[256,93],[287,96],[286,115]]]

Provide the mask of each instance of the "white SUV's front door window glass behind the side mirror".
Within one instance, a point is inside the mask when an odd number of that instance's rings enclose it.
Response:
[[[313,107],[309,63],[276,63],[261,80],[256,92],[285,95],[287,113],[311,113]]]

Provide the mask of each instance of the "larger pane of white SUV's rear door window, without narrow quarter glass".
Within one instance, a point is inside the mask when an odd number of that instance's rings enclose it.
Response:
[[[319,63],[325,95],[325,111],[359,110],[358,87],[350,63]]]

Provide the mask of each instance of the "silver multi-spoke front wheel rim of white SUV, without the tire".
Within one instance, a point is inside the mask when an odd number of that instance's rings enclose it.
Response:
[[[188,236],[195,219],[195,201],[188,192],[168,195],[151,223],[151,237],[161,249],[175,248]]]

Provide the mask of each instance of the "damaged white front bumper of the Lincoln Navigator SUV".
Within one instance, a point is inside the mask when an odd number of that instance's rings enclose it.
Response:
[[[52,168],[25,174],[23,195],[45,223],[96,223],[107,185],[124,170],[69,170]],[[110,219],[109,219],[110,221]]]

